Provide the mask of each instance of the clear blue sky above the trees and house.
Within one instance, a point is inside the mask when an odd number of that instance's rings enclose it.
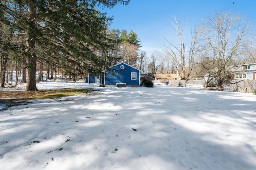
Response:
[[[130,0],[126,6],[106,10],[114,17],[110,29],[137,33],[140,49],[148,56],[155,50],[162,51],[161,42],[168,37],[167,28],[173,28],[170,21],[174,16],[181,23],[187,21],[186,28],[191,30],[213,13],[223,11],[238,12],[256,25],[256,0]]]

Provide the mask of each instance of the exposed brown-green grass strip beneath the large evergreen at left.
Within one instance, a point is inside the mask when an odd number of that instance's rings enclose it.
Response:
[[[0,102],[10,103],[37,99],[57,99],[68,95],[92,94],[94,92],[96,92],[96,90],[88,88],[62,88],[29,92],[0,92]]]

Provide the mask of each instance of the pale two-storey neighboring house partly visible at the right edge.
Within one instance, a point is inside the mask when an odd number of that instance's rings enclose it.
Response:
[[[243,64],[234,66],[233,68],[234,79],[248,79],[256,80],[256,63],[253,64]]]

